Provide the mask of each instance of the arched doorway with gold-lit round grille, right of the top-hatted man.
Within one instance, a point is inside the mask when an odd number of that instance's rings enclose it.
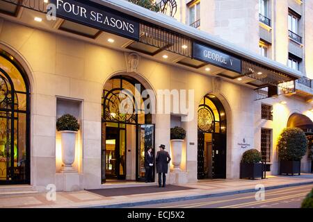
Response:
[[[226,113],[213,94],[198,108],[198,179],[226,178]]]

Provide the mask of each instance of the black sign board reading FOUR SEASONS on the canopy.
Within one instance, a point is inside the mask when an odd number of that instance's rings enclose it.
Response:
[[[104,7],[89,6],[74,0],[51,0],[56,6],[56,16],[101,31],[139,40],[139,23]]]

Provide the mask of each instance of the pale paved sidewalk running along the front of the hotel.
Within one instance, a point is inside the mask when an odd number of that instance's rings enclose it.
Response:
[[[264,185],[266,189],[291,187],[297,185],[312,184],[313,174],[301,176],[268,176],[266,180],[205,180],[188,185],[168,186],[168,188],[136,187],[141,191],[131,189],[128,192],[118,194],[111,193],[107,196],[96,194],[97,191],[58,192],[56,201],[48,201],[46,194],[18,194],[1,196],[0,208],[3,207],[131,207],[135,205],[147,205],[155,203],[168,203],[178,200],[191,200],[207,198],[210,196],[225,196],[255,191],[255,185]],[[147,189],[147,192],[143,191]],[[158,189],[157,192],[152,192]],[[159,191],[161,189],[161,191]],[[163,189],[163,191],[162,191]],[[99,190],[98,190],[99,191]],[[100,191],[101,192],[101,191]],[[114,193],[114,191],[113,191]],[[149,195],[147,195],[149,194]]]

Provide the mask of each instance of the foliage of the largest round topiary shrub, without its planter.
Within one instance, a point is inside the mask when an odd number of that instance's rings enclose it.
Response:
[[[300,161],[307,151],[307,137],[300,128],[284,128],[278,138],[278,156],[282,161]]]

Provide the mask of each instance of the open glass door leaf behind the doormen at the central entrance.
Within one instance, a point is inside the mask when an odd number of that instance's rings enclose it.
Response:
[[[137,160],[136,160],[136,180],[143,182],[145,181],[145,153],[149,148],[152,148],[152,153],[155,154],[154,151],[154,125],[153,124],[145,124],[138,126],[138,139],[137,139]],[[155,158],[155,155],[154,155]],[[152,178],[154,181],[154,169],[153,168]]]

